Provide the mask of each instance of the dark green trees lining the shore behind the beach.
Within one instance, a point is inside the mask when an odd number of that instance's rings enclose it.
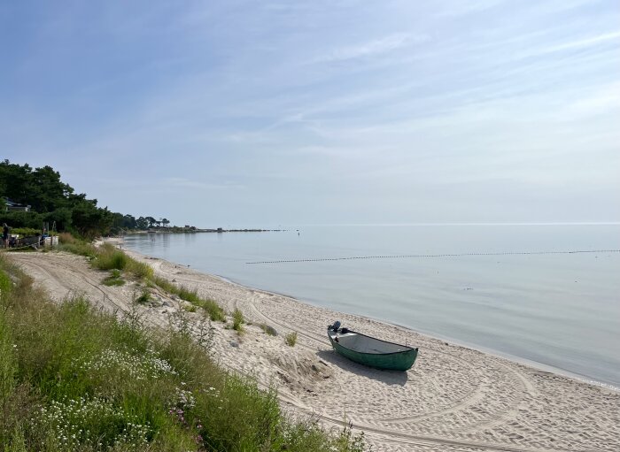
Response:
[[[7,202],[30,206],[29,211],[9,211]],[[166,218],[135,218],[133,215],[97,207],[97,199],[76,194],[60,180],[51,166],[33,169],[30,165],[0,162],[0,224],[42,229],[56,224],[58,232],[70,232],[84,238],[118,234],[123,230],[168,226]]]

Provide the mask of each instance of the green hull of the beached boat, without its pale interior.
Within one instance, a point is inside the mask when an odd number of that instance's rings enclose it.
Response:
[[[391,342],[380,341],[369,336],[364,336],[360,333],[348,331],[347,333],[359,334],[364,338],[377,343],[390,344],[398,346],[398,344],[391,344]],[[407,371],[415,363],[415,358],[418,355],[418,349],[412,349],[406,346],[398,346],[402,350],[392,353],[367,353],[350,349],[345,347],[340,341],[337,341],[338,333],[328,328],[328,337],[331,342],[331,346],[342,356],[354,361],[355,363],[368,365],[376,369],[385,369],[391,371]]]

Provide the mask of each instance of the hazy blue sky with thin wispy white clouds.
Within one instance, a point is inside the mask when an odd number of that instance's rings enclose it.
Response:
[[[620,221],[617,0],[0,0],[0,157],[200,227]]]

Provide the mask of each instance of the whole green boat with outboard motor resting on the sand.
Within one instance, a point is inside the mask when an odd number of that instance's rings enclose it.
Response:
[[[417,348],[381,341],[347,328],[341,328],[340,322],[327,327],[327,336],[331,346],[340,355],[376,369],[407,371],[414,365],[415,358],[418,356]]]

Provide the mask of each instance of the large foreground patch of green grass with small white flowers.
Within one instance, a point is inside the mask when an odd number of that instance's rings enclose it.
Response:
[[[190,335],[84,298],[51,303],[0,257],[4,451],[363,450],[350,428],[287,418],[275,390],[222,370]]]

